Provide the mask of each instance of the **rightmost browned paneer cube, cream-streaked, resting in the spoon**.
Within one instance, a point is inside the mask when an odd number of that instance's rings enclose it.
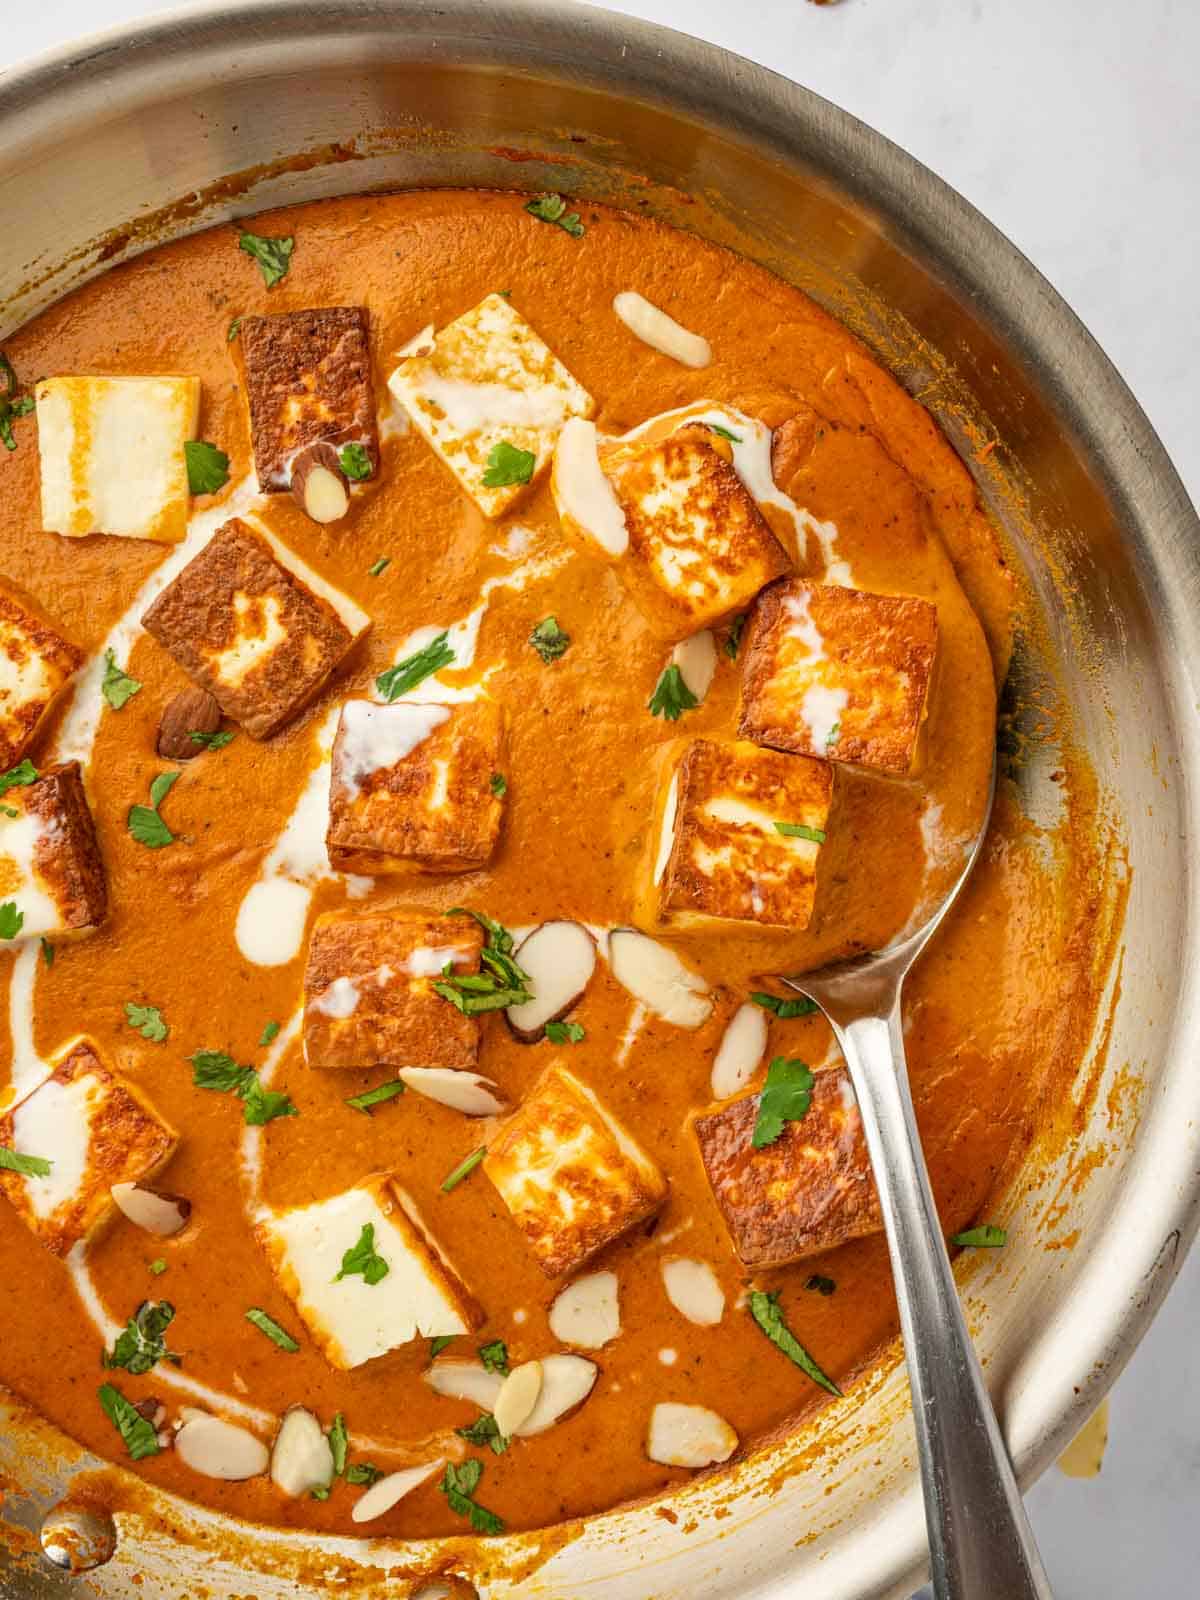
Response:
[[[907,776],[938,651],[938,610],[907,595],[776,584],[744,646],[739,733],[755,744]]]

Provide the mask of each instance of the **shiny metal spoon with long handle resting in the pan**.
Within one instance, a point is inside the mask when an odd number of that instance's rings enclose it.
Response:
[[[994,797],[995,771],[965,866],[915,931],[874,955],[784,982],[832,1022],[862,1114],[909,1363],[934,1595],[1051,1600],[954,1286],[912,1114],[901,1027],[901,986],[971,875]]]

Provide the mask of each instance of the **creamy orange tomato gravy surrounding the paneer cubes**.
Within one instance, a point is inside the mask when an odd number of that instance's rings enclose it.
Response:
[[[171,1418],[202,1405],[248,1421],[270,1440],[288,1406],[328,1426],[346,1416],[352,1459],[394,1470],[435,1456],[483,1461],[478,1499],[510,1528],[586,1515],[669,1488],[686,1474],[648,1459],[645,1437],[658,1402],[710,1406],[741,1448],[794,1426],[814,1406],[854,1405],[854,1374],[894,1333],[894,1302],[880,1235],[790,1267],[746,1274],[701,1166],[691,1115],[710,1106],[710,1070],[726,1024],[763,979],[856,947],[872,947],[910,915],[926,872],[954,861],[973,832],[986,792],[995,728],[995,685],[1013,629],[1013,589],[971,480],[930,418],[808,299],[778,278],[696,238],[643,218],[584,206],[586,232],[546,226],[504,194],[406,194],[331,200],[259,218],[264,235],[293,235],[286,277],[264,286],[237,234],[218,229],[163,246],[77,291],[6,342],[24,378],[59,373],[179,373],[202,381],[200,437],[230,456],[221,502],[194,502],[219,526],[253,504],[259,522],[323,578],[350,595],[373,630],[318,701],[283,733],[254,742],[243,733],[184,768],[163,813],[178,843],[149,851],[126,827],[144,802],[166,701],[186,686],[176,662],[134,627],[120,651],[142,690],[102,710],[88,794],[109,877],[104,926],[58,947],[53,966],[30,955],[0,957],[14,987],[5,1058],[19,1077],[30,1048],[51,1056],[86,1032],[107,1062],[139,1085],[181,1133],[162,1187],[192,1203],[189,1226],[155,1240],[120,1218],[72,1274],[0,1203],[0,1261],[10,1293],[0,1379],[91,1450],[126,1461],[96,1400],[106,1374],[98,1317],[122,1326],[146,1299],[176,1309],[168,1344],[178,1368],[110,1374],[133,1400],[157,1395]],[[504,1454],[470,1450],[453,1432],[478,1408],[422,1381],[429,1341],[352,1371],[315,1349],[254,1238],[254,1206],[294,1206],[334,1195],[374,1171],[397,1171],[486,1312],[478,1333],[448,1354],[474,1355],[504,1341],[514,1365],[562,1349],[549,1328],[560,1283],[536,1266],[496,1189],[475,1171],[453,1192],[446,1173],[486,1141],[488,1122],[416,1093],[368,1118],[346,1098],[392,1077],[306,1067],[294,1026],[302,942],[291,958],[262,965],[264,944],[238,938],[238,912],[256,883],[288,878],[272,851],[306,786],[320,789],[320,734],[344,699],[368,698],[406,642],[453,629],[474,645],[469,666],[443,670],[437,690],[486,685],[507,712],[507,795],[501,845],[483,870],[446,877],[355,880],[322,870],[323,813],[293,829],[296,858],[314,870],[286,910],[302,933],[323,910],[402,906],[440,914],[466,904],[510,928],[574,918],[597,928],[629,923],[635,877],[653,850],[654,752],[677,738],[736,736],[739,664],[718,651],[702,706],[677,723],[653,718],[646,701],[669,646],[643,624],[611,568],[568,541],[541,483],[499,522],[486,522],[424,438],[389,403],[397,352],[426,325],[443,326],[483,296],[509,291],[512,306],[597,400],[602,435],[622,434],[680,406],[714,402],[776,429],[774,485],[803,512],[797,526],[776,506],[768,520],[800,571],[843,563],[853,584],[877,594],[920,595],[938,608],[939,666],[925,730],[925,762],[912,781],[838,773],[822,846],[811,926],[765,933],[666,938],[712,989],[712,1016],[694,1030],[640,1010],[605,960],[574,1013],[579,1043],[518,1042],[499,1016],[483,1019],[478,1067],[518,1104],[560,1058],[626,1123],[661,1166],[669,1200],[589,1267],[619,1283],[621,1333],[582,1352],[600,1368],[582,1408]],[[680,365],[638,341],[613,312],[635,291],[683,330],[706,339],[712,362]],[[381,467],[355,490],[350,515],[330,526],[307,520],[288,496],[253,499],[253,461],[234,317],[320,306],[366,306],[371,362],[384,414]],[[694,350],[694,346],[690,349]],[[139,587],[171,554],[136,539],[62,539],[40,528],[34,419],[16,424],[18,450],[0,451],[0,571],[34,595],[61,630],[88,651],[102,646]],[[370,568],[389,565],[378,576]],[[486,605],[480,610],[482,602]],[[139,613],[134,613],[134,616]],[[531,627],[555,616],[566,653],[544,664]],[[426,630],[419,634],[418,630]],[[462,651],[469,654],[469,651]],[[427,686],[429,688],[429,686]],[[85,678],[80,696],[96,696]],[[446,699],[445,693],[442,698]],[[51,758],[58,726],[34,757]],[[67,723],[78,731],[77,723]],[[227,725],[229,726],[229,725]],[[328,736],[326,736],[328,738]],[[320,806],[318,806],[320,811]],[[315,845],[314,845],[315,837]],[[1090,1026],[1090,986],[1069,974],[1088,966],[1090,906],[1082,867],[1064,834],[1054,877],[1002,786],[976,877],[907,990],[909,1067],[925,1149],[947,1232],[987,1214],[989,1197],[1014,1170],[1045,1112],[1050,1086],[1078,1059]],[[1064,866],[1066,862],[1066,866]],[[299,870],[299,869],[298,869]],[[357,896],[357,898],[355,898]],[[288,938],[266,954],[290,955]],[[294,941],[293,941],[294,942]],[[1058,966],[1046,995],[1043,974]],[[32,987],[32,1040],[22,995]],[[160,1008],[163,1043],[126,1022],[126,1002]],[[5,1016],[8,1013],[0,1013]],[[261,1046],[267,1022],[283,1032]],[[264,1069],[299,1115],[248,1130],[238,1102],[192,1083],[186,1058],[229,1051]],[[768,1058],[835,1067],[819,1016],[770,1021]],[[24,1069],[22,1069],[24,1062]],[[266,1066],[264,1066],[266,1064]],[[5,1069],[0,1069],[3,1072]],[[35,1069],[34,1069],[35,1070]],[[762,1083],[762,1070],[755,1078]],[[725,1293],[715,1326],[672,1309],[661,1262],[707,1262]],[[149,1262],[162,1258],[155,1277]],[[835,1291],[805,1288],[813,1275]],[[843,1389],[829,1400],[757,1330],[746,1310],[750,1283],[778,1290],[797,1338]],[[83,1290],[80,1296],[78,1290]],[[299,1339],[285,1354],[246,1323],[266,1309]],[[198,1386],[192,1394],[179,1378]],[[266,1477],[222,1483],[200,1477],[173,1450],[138,1472],[242,1517],[291,1526],[400,1536],[461,1533],[466,1525],[438,1491],[437,1475],[394,1510],[357,1528],[360,1490],[338,1483],[328,1499],[285,1498]]]

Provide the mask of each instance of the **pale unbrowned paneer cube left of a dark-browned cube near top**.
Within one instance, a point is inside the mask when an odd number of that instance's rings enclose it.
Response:
[[[42,526],[178,544],[192,507],[184,445],[198,418],[198,378],[43,378]]]

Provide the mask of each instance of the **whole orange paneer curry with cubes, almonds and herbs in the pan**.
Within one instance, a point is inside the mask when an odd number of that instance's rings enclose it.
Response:
[[[893,1334],[853,1090],[773,974],[970,838],[1005,558],[808,299],[555,211],[320,202],[5,346],[0,1379],[250,1518],[584,1515],[853,1406]],[[947,1232],[1086,944],[1024,826],[909,997]]]

